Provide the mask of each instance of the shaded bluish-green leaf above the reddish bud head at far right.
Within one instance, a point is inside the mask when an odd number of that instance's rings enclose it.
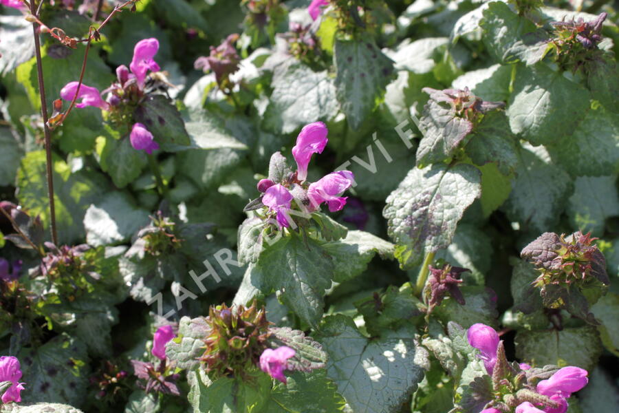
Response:
[[[510,220],[545,231],[558,222],[572,191],[572,179],[560,167],[545,162],[543,149],[522,148],[518,153],[516,178],[503,209]]]

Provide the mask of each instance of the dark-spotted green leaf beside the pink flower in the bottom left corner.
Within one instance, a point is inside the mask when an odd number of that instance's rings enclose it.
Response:
[[[39,348],[22,350],[23,380],[36,392],[23,392],[24,402],[83,403],[88,390],[86,346],[78,339],[58,335]]]

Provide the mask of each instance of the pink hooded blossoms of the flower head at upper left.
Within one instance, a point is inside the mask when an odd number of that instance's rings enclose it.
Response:
[[[116,68],[118,82],[102,92],[109,94],[107,101],[103,100],[96,87],[80,85],[79,82],[67,83],[61,89],[61,98],[72,101],[77,95],[79,102],[76,103],[76,107],[93,106],[105,111],[114,110],[119,105],[121,97],[131,98],[135,95],[135,98],[139,99],[144,94],[146,74],[149,70],[153,72],[160,70],[159,65],[154,60],[158,50],[159,41],[155,38],[138,41],[133,48],[133,59],[131,59],[129,68],[125,65],[118,66]],[[155,149],[159,149],[159,144],[155,142],[153,134],[142,123],[133,125],[129,140],[133,149],[138,151],[151,154]]]

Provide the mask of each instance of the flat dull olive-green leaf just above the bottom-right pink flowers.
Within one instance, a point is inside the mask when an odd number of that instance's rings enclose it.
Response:
[[[591,371],[602,353],[594,327],[564,328],[561,331],[525,331],[516,334],[516,357],[532,366],[554,364],[578,366]]]

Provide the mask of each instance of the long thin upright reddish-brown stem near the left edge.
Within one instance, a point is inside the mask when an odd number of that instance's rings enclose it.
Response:
[[[41,0],[42,2],[43,0]],[[34,0],[30,0],[30,12],[36,16]],[[36,32],[38,25],[32,23],[34,34],[34,53],[36,54],[36,71],[39,74],[39,96],[41,97],[41,114],[43,115],[43,132],[45,134],[45,156],[47,173],[47,197],[50,200],[50,226],[52,230],[52,242],[58,245],[58,231],[56,229],[56,205],[54,204],[54,179],[52,176],[52,136],[50,128],[47,127],[47,100],[45,99],[45,84],[43,83],[43,63],[41,62],[41,42],[39,34]]]

